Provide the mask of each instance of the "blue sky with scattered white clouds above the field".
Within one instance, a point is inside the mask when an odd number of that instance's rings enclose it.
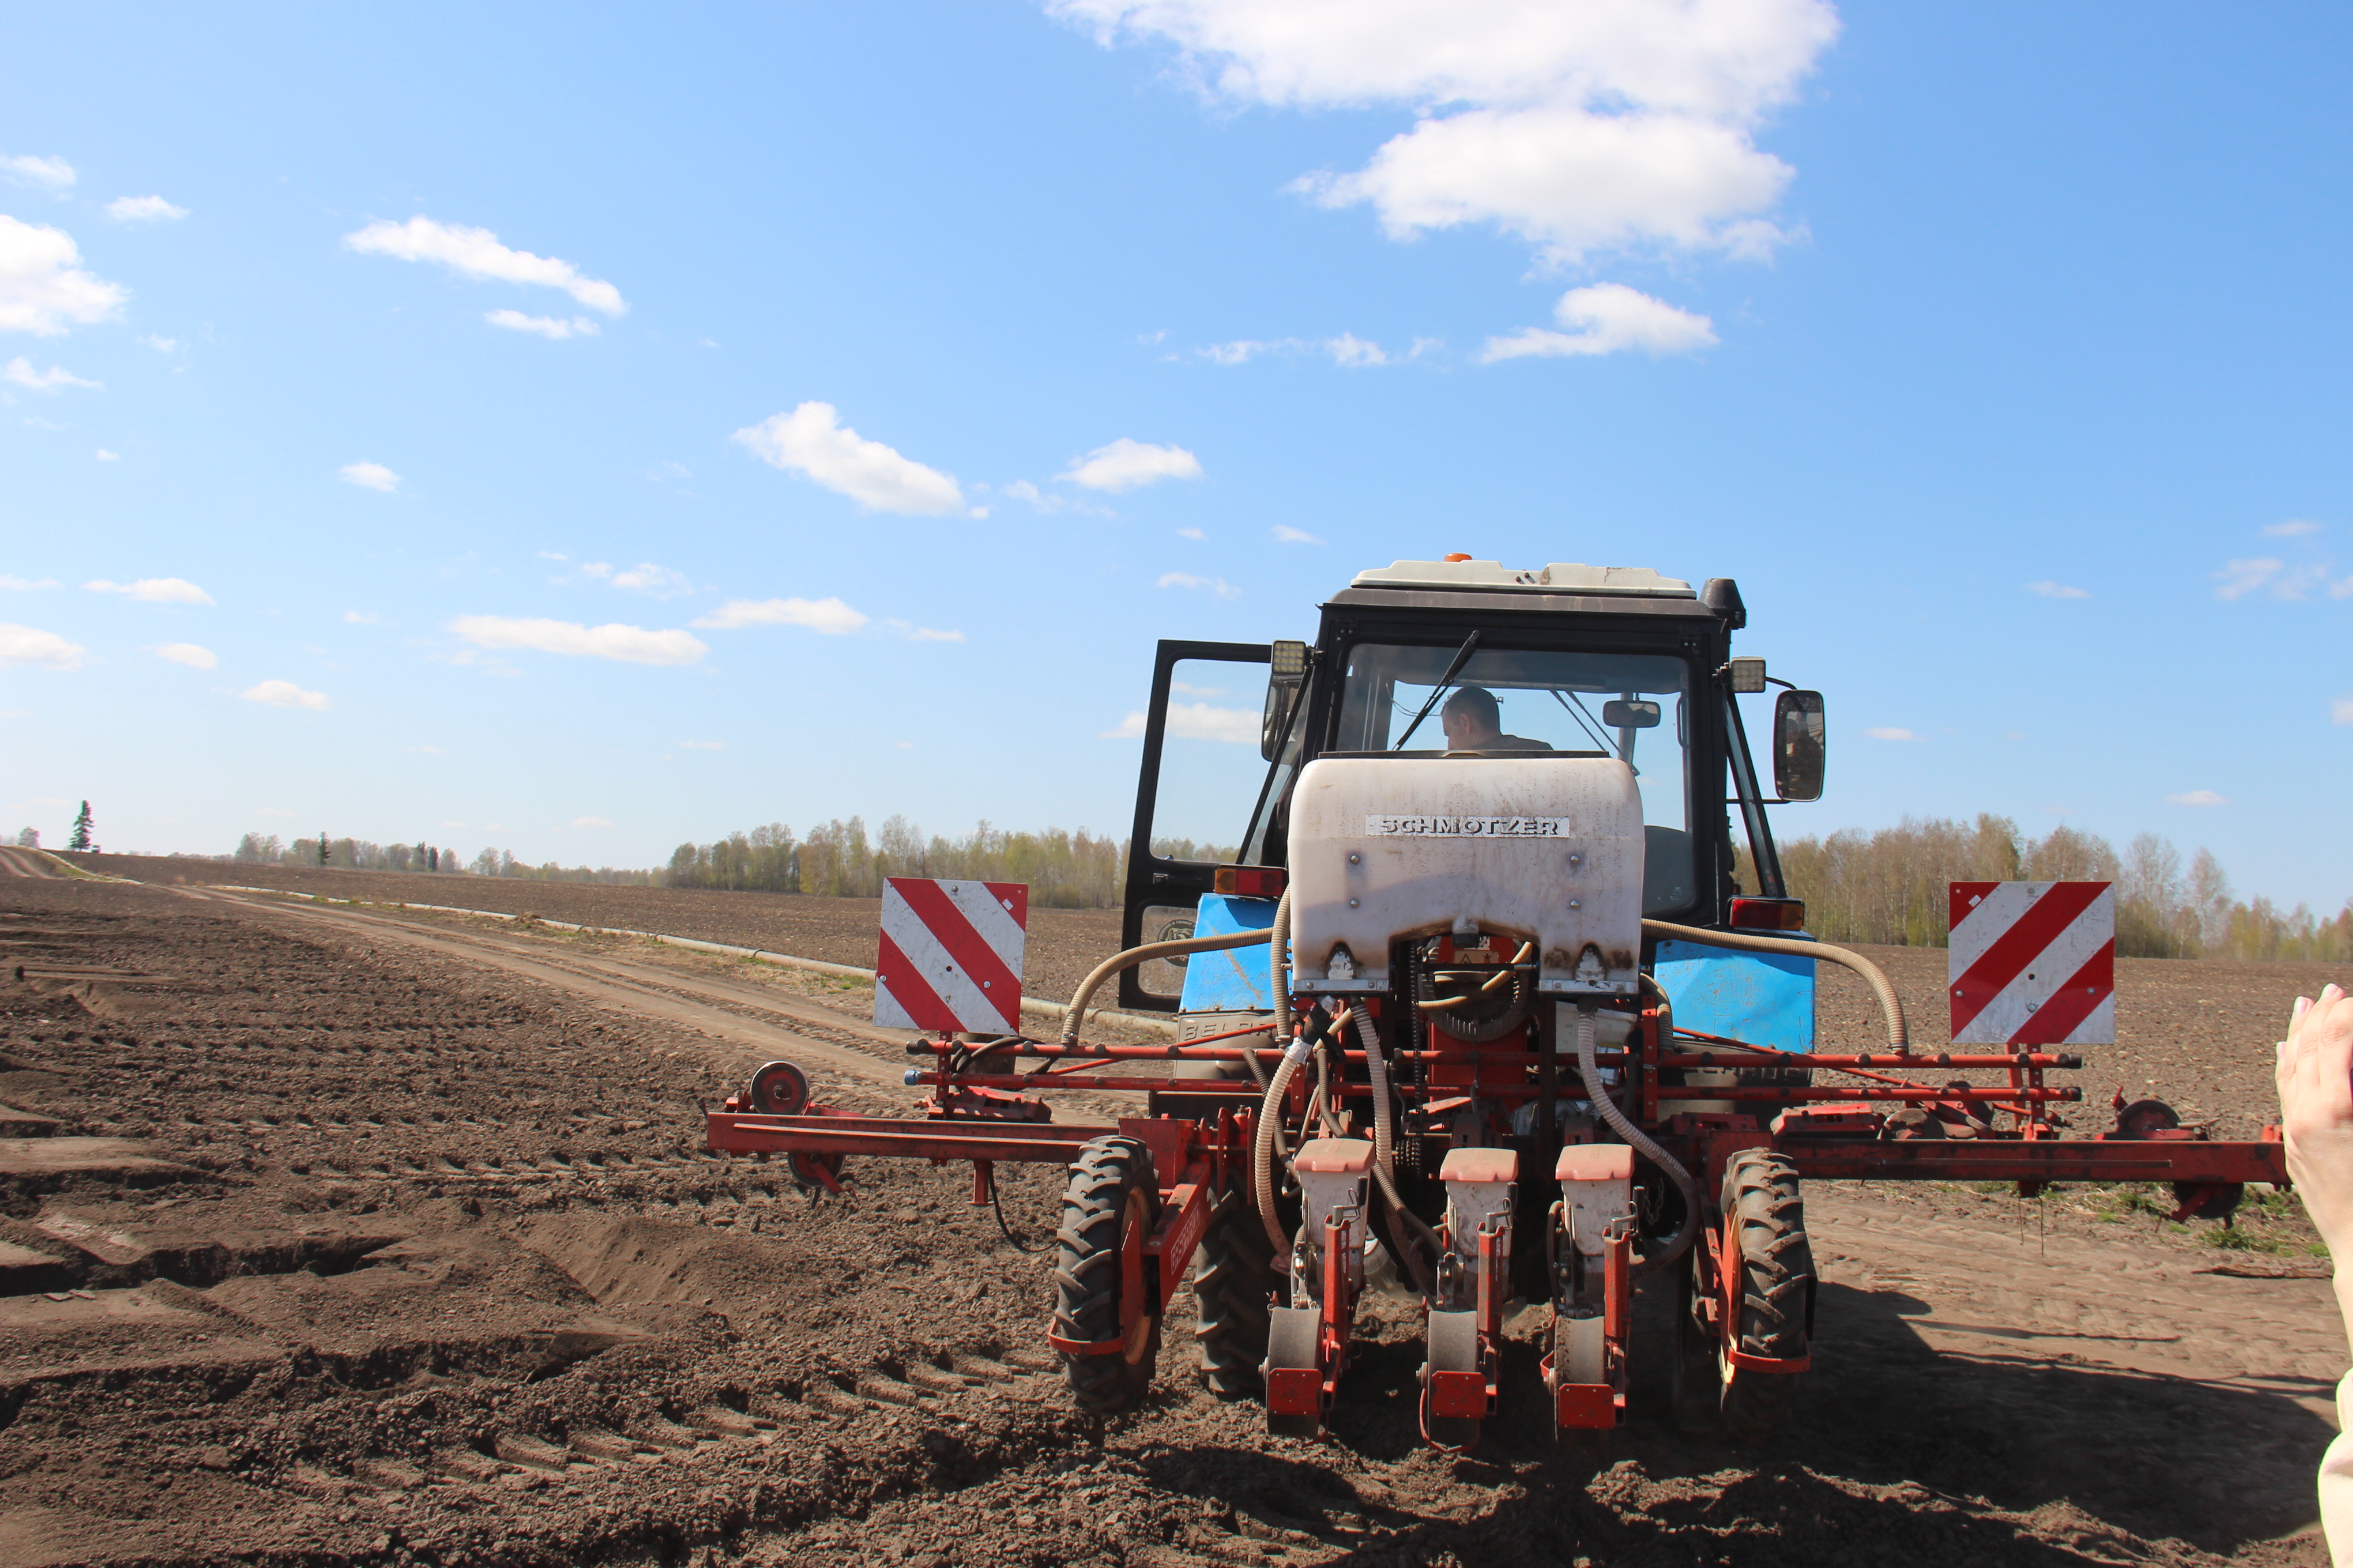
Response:
[[[1155,637],[1468,550],[1739,578],[1833,722],[1784,832],[2160,830],[2334,910],[2348,33],[12,9],[0,818],[1118,832]]]

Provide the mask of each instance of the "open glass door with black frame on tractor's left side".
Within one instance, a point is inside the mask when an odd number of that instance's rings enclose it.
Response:
[[[1162,642],[1153,693],[1122,733],[1144,738],[1136,823],[1127,849],[1120,947],[1193,936],[1200,896],[1249,839],[1266,783],[1261,736],[1271,649],[1264,642]],[[1120,1006],[1176,1011],[1184,959],[1120,976]]]

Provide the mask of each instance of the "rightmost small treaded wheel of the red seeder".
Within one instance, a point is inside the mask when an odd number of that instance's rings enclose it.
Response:
[[[1805,1239],[1805,1199],[1798,1166],[1772,1150],[1741,1150],[1725,1168],[1725,1215],[1732,1220],[1739,1269],[1739,1349],[1751,1356],[1805,1356],[1807,1295],[1814,1253]],[[1722,1413],[1732,1436],[1762,1443],[1788,1420],[1800,1373],[1758,1373],[1725,1366]]]

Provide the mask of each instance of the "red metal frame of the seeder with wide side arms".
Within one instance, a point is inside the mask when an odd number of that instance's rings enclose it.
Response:
[[[1313,1001],[1313,999],[1301,999]],[[1379,1001],[1358,1006],[1379,1009]],[[1179,1079],[1118,1077],[1085,1072],[1089,1063],[1238,1063],[1249,1053],[1271,1058],[1268,1048],[1240,1041],[1259,1030],[1231,1030],[1202,1041],[1167,1046],[1089,1046],[1016,1041],[986,1051],[976,1065],[1009,1065],[1014,1058],[1038,1058],[1038,1072],[958,1072],[960,1051],[953,1039],[934,1039],[911,1051],[934,1058],[929,1070],[908,1074],[911,1084],[932,1088],[922,1119],[861,1117],[809,1105],[802,1114],[769,1117],[727,1100],[708,1112],[706,1145],[725,1154],[786,1154],[802,1180],[838,1190],[835,1171],[842,1157],[875,1154],[948,1164],[972,1161],[972,1201],[988,1204],[998,1161],[1071,1164],[1078,1150],[1104,1135],[1134,1138],[1151,1150],[1158,1206],[1148,1225],[1125,1218],[1120,1227],[1120,1335],[1101,1342],[1071,1342],[1047,1328],[1047,1342],[1073,1356],[1120,1354],[1139,1333],[1146,1314],[1158,1314],[1181,1288],[1193,1251],[1221,1204],[1249,1204],[1247,1171],[1252,1131],[1261,1088],[1249,1079]],[[1678,1032],[1680,1034],[1680,1032]],[[1426,1048],[1398,1051],[1393,1088],[1407,1107],[1407,1128],[1417,1135],[1445,1133],[1445,1112],[1487,1110],[1508,1117],[1546,1093],[1539,1070],[1546,1056],[1527,1048],[1529,1037],[1473,1046],[1457,1041],[1442,1020],[1424,1030]],[[1346,1065],[1365,1063],[1360,1051],[1332,1051],[1344,1070],[1332,1084],[1332,1103],[1346,1110],[1351,1100],[1372,1095],[1369,1084],[1348,1081]],[[1499,1048],[1501,1046],[1501,1048]],[[2287,1150],[2278,1128],[2266,1128],[2259,1143],[2212,1140],[2202,1128],[2162,1128],[2148,1133],[2101,1133],[2061,1138],[2049,1105],[2080,1103],[2078,1088],[2052,1088],[2047,1070],[2080,1067],[2080,1058],[2052,1051],[1864,1051],[1864,1053],[1779,1053],[1713,1037],[1682,1037],[1668,1046],[1659,1009],[1645,1006],[1626,1046],[1602,1048],[1598,1058],[1633,1079],[1628,1110],[1654,1131],[1699,1178],[1701,1192],[1718,1192],[1725,1164],[1739,1150],[1772,1147],[1807,1180],[1955,1180],[2017,1182],[2021,1192],[2040,1192],[2049,1182],[2174,1182],[2184,1199],[2179,1213],[2193,1213],[2212,1194],[2235,1182],[2287,1185]],[[972,1058],[967,1058],[972,1060]],[[1553,1058],[1558,1063],[1558,1058]],[[1849,1072],[1873,1079],[1866,1086],[1845,1084],[1664,1084],[1671,1070],[1741,1072],[1805,1067]],[[1892,1079],[1897,1072],[2000,1072],[2002,1084],[1969,1086],[1920,1079]],[[1426,1081],[1417,1084],[1414,1074]],[[1188,1095],[1193,1103],[1228,1100],[1214,1117],[1122,1117],[1113,1124],[1056,1124],[1047,1119],[1042,1091],[1118,1091]],[[1297,1074],[1282,1107],[1287,1121],[1308,1112],[1313,1084]],[[1555,1079],[1555,1095],[1579,1095],[1581,1086]],[[1729,1105],[1732,1110],[1682,1110],[1694,1105]],[[1758,1124],[1746,1107],[1788,1107],[1772,1128]],[[1955,1135],[1906,1135],[1918,1126],[1889,1124],[1885,1112],[1920,1107],[1937,1126]],[[2009,1126],[1995,1126],[1993,1114],[2007,1114]],[[1769,1112],[1765,1112],[1769,1114]],[[1918,1121],[1918,1119],[1915,1119]],[[1732,1373],[1802,1373],[1809,1356],[1753,1356],[1739,1347],[1739,1237],[1732,1215],[1715,1213],[1701,1225],[1694,1244],[1699,1316],[1715,1333],[1725,1366]],[[1322,1302],[1318,1312],[1318,1363],[1313,1368],[1271,1368],[1266,1403],[1273,1413],[1315,1415],[1318,1427],[1332,1408],[1348,1363],[1348,1338],[1355,1300],[1348,1293],[1344,1241],[1346,1225],[1325,1237]],[[1428,1413],[1480,1420],[1497,1403],[1497,1366],[1504,1340],[1501,1302],[1501,1232],[1485,1225],[1478,1239],[1478,1324],[1480,1371],[1440,1371],[1431,1375]],[[1628,1237],[1614,1237],[1602,1260],[1602,1316],[1609,1382],[1560,1382],[1553,1356],[1541,1359],[1544,1382],[1560,1427],[1614,1427],[1626,1413],[1626,1345],[1631,1335],[1631,1260]]]

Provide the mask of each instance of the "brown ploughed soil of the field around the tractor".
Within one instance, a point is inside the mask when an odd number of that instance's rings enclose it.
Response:
[[[409,882],[871,952],[871,905]],[[2327,1561],[2344,1333],[2325,1281],[2247,1276],[2294,1269],[2292,1211],[2245,1253],[2113,1194],[1821,1185],[1817,1371],[1769,1453],[1673,1434],[1654,1293],[1600,1455],[1544,1441],[1522,1352],[1473,1458],[1421,1448],[1388,1309],[1327,1443],[1200,1392],[1184,1309],[1151,1406],[1096,1432],[1033,1371],[1040,1260],[962,1168],[868,1161],[819,1201],[699,1152],[774,1051],[835,1103],[911,1103],[854,992],[487,924],[0,879],[0,1561]],[[1033,926],[1031,973],[1104,924]],[[1885,957],[1934,1011],[1944,954]],[[2252,1124],[2313,983],[2125,966],[2099,1060]],[[1826,1044],[1861,1044],[1859,1001],[1826,994]],[[1007,1182],[1024,1239],[1056,1190]]]

